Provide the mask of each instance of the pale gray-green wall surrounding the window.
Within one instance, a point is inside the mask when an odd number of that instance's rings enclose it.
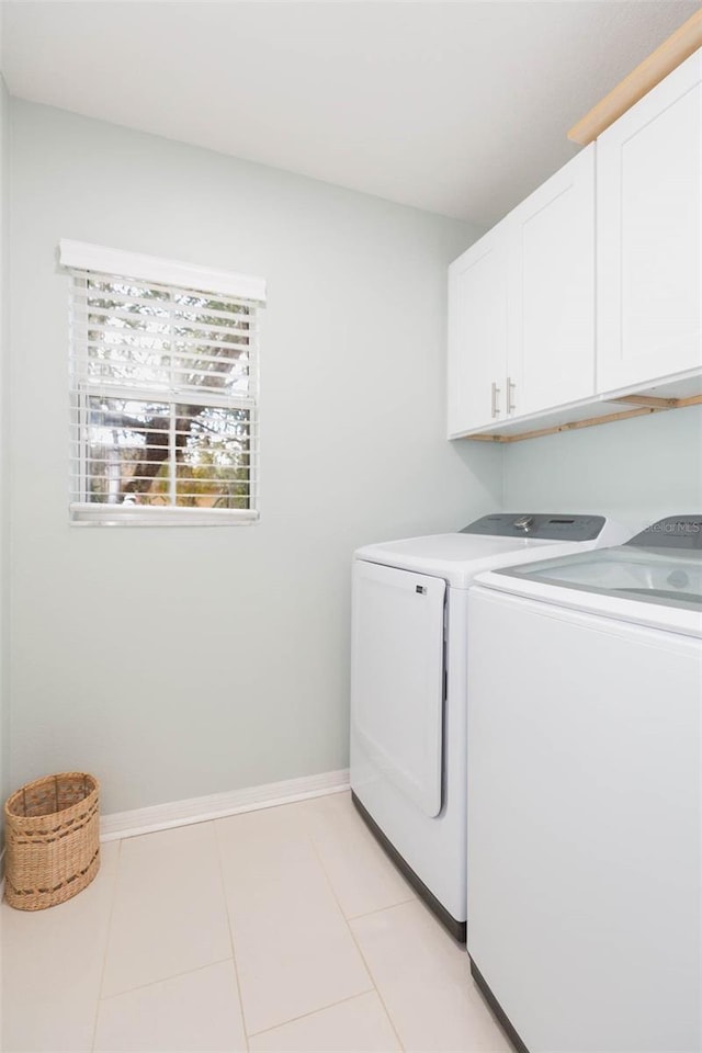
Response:
[[[12,101],[12,779],[105,811],[346,767],[349,563],[499,507],[444,439],[465,224]],[[268,279],[261,522],[70,528],[60,238]]]

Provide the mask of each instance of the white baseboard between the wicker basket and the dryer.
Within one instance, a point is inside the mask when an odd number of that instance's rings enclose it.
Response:
[[[100,819],[100,840],[114,841],[123,837],[138,837],[156,830],[170,830],[191,823],[220,819],[240,812],[272,808],[278,804],[292,804],[307,797],[326,793],[340,793],[349,789],[349,771],[325,771],[319,775],[304,775],[285,782],[269,782],[263,786],[213,793],[206,797],[190,797],[188,801],[171,801],[149,808],[132,812],[113,812]]]

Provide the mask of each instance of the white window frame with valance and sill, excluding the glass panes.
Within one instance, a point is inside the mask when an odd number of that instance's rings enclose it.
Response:
[[[258,324],[261,307],[265,303],[265,282],[262,279],[235,274],[225,271],[211,271],[192,264],[179,263],[173,260],[161,260],[155,257],[124,252],[116,249],[105,249],[84,242],[60,242],[60,264],[71,272],[71,314],[75,299],[73,283],[80,283],[93,278],[107,280],[123,280],[125,283],[136,281],[141,284],[166,286],[174,295],[178,293],[205,295],[216,297],[225,295],[246,303],[251,310],[253,328],[252,341],[248,349],[248,392],[246,395],[219,395],[215,390],[203,389],[202,393],[186,385],[179,386],[174,382],[168,388],[157,390],[148,384],[101,381],[93,385],[86,376],[80,376],[77,363],[84,356],[86,349],[77,338],[71,318],[69,338],[70,364],[70,497],[69,518],[72,525],[107,525],[107,526],[203,526],[203,525],[246,525],[259,520],[259,341]],[[251,446],[249,452],[249,507],[246,509],[231,508],[193,508],[174,503],[163,506],[133,505],[131,502],[116,505],[106,501],[89,501],[87,468],[87,429],[88,400],[91,392],[100,393],[103,397],[158,404],[169,407],[171,424],[169,431],[168,460],[171,467],[168,472],[170,500],[173,499],[173,461],[172,428],[174,412],[179,406],[191,405],[212,407],[213,409],[244,410],[248,414]],[[73,432],[75,428],[75,432]],[[78,498],[78,499],[75,499]]]

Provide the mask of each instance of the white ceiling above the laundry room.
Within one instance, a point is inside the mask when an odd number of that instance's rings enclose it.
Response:
[[[3,4],[25,99],[492,224],[687,0]]]

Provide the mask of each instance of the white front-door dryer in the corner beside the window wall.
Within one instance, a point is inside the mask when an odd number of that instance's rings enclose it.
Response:
[[[456,533],[354,554],[353,801],[457,939],[466,919],[468,586],[482,570],[627,536],[602,516],[500,512]]]

